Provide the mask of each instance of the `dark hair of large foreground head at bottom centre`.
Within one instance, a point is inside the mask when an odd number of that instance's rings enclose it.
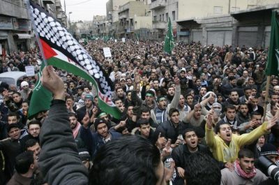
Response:
[[[89,184],[156,184],[160,151],[140,135],[129,135],[100,147],[89,174]]]

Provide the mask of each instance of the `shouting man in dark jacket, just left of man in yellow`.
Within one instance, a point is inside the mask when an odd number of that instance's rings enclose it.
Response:
[[[184,184],[184,167],[186,166],[187,158],[194,153],[202,152],[212,156],[211,152],[204,145],[198,144],[198,138],[193,128],[187,128],[183,131],[184,145],[179,145],[172,151],[172,158],[174,159],[178,175],[174,179],[174,184]]]

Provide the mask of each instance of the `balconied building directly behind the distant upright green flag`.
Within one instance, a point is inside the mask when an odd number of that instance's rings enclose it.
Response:
[[[164,40],[168,17],[170,17],[173,34],[176,37],[176,20],[179,12],[178,0],[151,0],[149,8],[152,12],[153,38]]]

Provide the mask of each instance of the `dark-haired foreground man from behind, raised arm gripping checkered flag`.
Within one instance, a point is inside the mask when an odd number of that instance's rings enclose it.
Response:
[[[87,185],[87,170],[78,157],[69,126],[63,81],[54,73],[52,66],[47,66],[43,70],[43,86],[54,94],[50,115],[43,124],[41,133],[43,146],[40,169],[43,176],[47,183],[52,185]],[[146,158],[149,160],[146,161]],[[71,168],[65,168],[68,165]],[[98,168],[100,166],[102,168]],[[127,171],[128,173],[125,173]],[[92,181],[89,184],[130,185],[146,182],[146,184],[165,185],[170,179],[164,177],[164,173],[167,175],[166,172],[157,147],[142,137],[122,137],[100,148],[94,161],[93,174],[90,175]]]

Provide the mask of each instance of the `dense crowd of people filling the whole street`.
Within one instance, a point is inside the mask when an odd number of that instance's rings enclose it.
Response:
[[[181,42],[167,54],[163,43],[135,40],[84,48],[110,77],[121,118],[100,108],[91,83],[47,66],[52,105],[29,120],[40,52],[3,57],[0,73],[32,65],[36,75],[0,84],[1,185],[276,184],[257,161],[279,165],[279,82],[271,76],[266,91],[266,48]]]

